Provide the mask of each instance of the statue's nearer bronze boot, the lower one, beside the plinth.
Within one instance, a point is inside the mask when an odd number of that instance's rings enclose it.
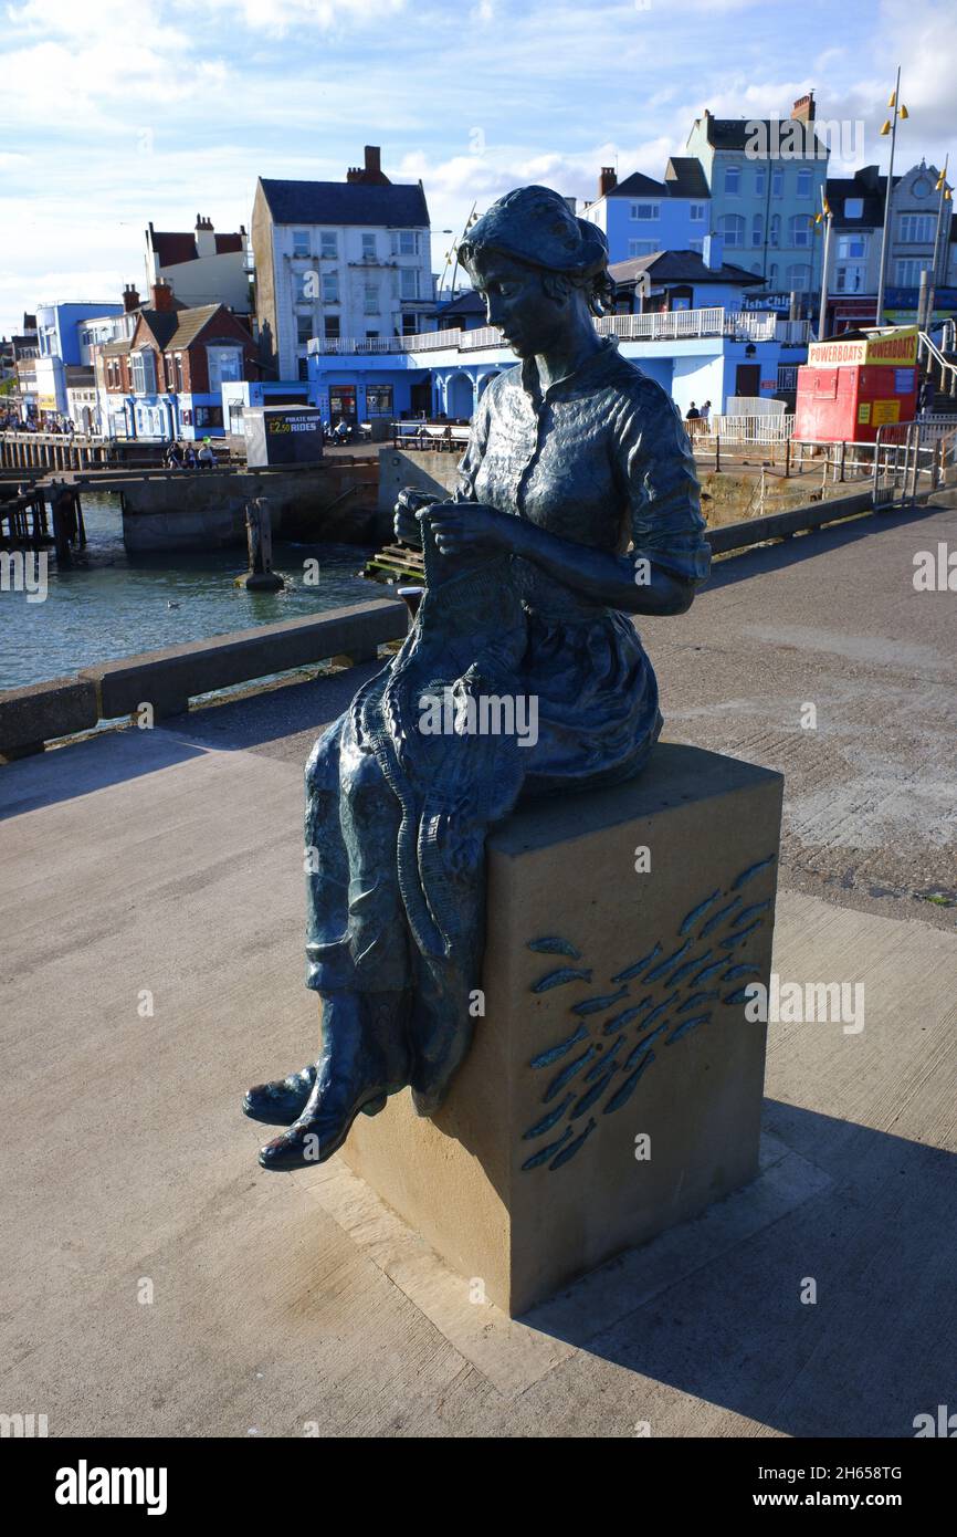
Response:
[[[283,1136],[260,1150],[263,1168],[324,1164],[366,1111],[378,1114],[406,1088],[410,1053],[407,993],[323,994],[323,1054],[309,1102]]]

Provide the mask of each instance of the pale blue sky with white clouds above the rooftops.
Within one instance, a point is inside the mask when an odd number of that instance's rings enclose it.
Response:
[[[863,124],[896,65],[899,164],[954,132],[955,0],[18,0],[0,8],[0,334],[45,300],[117,298],[143,231],[249,226],[257,175],[341,180],[382,146],[433,231],[522,181],[593,195],[662,175],[694,117]],[[846,172],[845,172],[846,174]],[[441,271],[449,237],[433,237]]]

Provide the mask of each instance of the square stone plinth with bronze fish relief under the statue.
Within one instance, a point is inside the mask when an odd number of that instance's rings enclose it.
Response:
[[[754,1177],[743,988],[770,979],[782,787],[659,744],[492,833],[472,1051],[435,1120],[406,1091],[343,1150],[476,1296],[522,1313]]]

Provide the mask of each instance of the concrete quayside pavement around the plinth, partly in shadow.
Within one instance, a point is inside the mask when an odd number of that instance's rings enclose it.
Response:
[[[642,626],[668,735],[783,768],[774,965],[863,981],[866,1024],[773,1025],[760,1179],[522,1322],[338,1160],[266,1174],[238,1111],[315,1039],[301,768],[369,670],[3,768],[0,1409],[51,1436],[912,1436],[952,1402],[957,908],[916,895],[955,884],[957,595],[911,583],[937,539],[954,512],[808,535]]]

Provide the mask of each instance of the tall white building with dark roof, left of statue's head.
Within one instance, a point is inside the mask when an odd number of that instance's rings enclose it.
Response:
[[[373,144],[346,181],[260,178],[252,251],[267,378],[307,378],[312,337],[415,335],[433,309],[422,183],[393,184]]]

